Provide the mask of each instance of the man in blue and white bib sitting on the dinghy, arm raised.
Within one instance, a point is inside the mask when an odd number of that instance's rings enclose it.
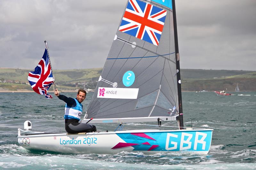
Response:
[[[81,133],[81,132],[96,132],[96,127],[88,123],[79,123],[83,111],[83,105],[81,104],[86,96],[86,91],[79,89],[76,95],[76,99],[61,95],[56,89],[54,91],[55,96],[60,100],[66,102],[65,107],[65,129],[68,133]]]

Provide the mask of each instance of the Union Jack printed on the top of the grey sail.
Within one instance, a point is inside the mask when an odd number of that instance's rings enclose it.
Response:
[[[119,31],[158,46],[167,11],[139,0],[129,0]]]

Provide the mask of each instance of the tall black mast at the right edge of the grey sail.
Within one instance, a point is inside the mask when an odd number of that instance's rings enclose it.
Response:
[[[177,69],[179,123],[180,123],[180,129],[183,129],[182,128],[183,127],[183,112],[182,112],[181,80],[180,80],[180,54],[179,54],[179,46],[178,46],[175,0],[172,0],[172,15],[173,15],[174,43],[175,43],[175,55],[176,55],[176,57],[175,57],[176,58],[176,69]]]

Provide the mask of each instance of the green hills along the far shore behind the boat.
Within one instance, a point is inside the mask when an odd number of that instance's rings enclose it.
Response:
[[[32,90],[26,84],[29,71],[32,70],[0,68],[0,91]],[[95,89],[101,71],[102,68],[94,68],[53,70],[53,73],[60,90],[74,90],[84,88],[84,83],[87,89]],[[182,69],[181,82],[183,91],[234,91],[236,83],[241,91],[256,91],[256,71]]]

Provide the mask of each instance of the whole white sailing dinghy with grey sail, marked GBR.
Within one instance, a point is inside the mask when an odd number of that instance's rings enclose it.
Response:
[[[24,130],[18,129],[20,146],[72,154],[207,154],[212,129],[183,126],[179,61],[174,0],[129,0],[81,120],[116,123],[116,130],[40,133],[31,131],[31,122],[26,121]],[[145,122],[156,128],[123,130],[145,127]]]

